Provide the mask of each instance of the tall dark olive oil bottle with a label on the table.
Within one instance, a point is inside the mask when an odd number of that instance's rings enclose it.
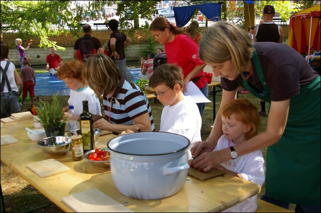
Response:
[[[80,130],[82,135],[83,152],[95,149],[94,121],[88,110],[88,101],[82,101],[82,113],[80,114]]]

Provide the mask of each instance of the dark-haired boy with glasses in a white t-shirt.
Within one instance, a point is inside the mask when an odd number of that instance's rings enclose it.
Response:
[[[175,64],[161,64],[156,68],[149,86],[164,105],[161,113],[160,132],[170,132],[185,136],[192,143],[201,140],[201,115],[191,96],[183,94],[184,78],[181,67]],[[124,133],[133,133],[126,130]],[[189,158],[191,158],[189,151]]]

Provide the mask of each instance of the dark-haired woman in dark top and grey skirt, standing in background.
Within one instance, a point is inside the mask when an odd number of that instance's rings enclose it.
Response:
[[[128,82],[133,82],[134,77],[128,71],[126,65],[125,47],[131,43],[131,38],[124,35],[118,30],[119,22],[116,19],[109,21],[109,28],[113,31],[108,41],[109,54],[108,56],[114,60],[120,73]]]

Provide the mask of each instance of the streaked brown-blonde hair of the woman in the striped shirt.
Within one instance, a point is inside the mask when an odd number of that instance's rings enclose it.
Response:
[[[112,94],[120,86],[121,73],[114,61],[104,54],[90,57],[83,65],[81,76],[98,97]]]

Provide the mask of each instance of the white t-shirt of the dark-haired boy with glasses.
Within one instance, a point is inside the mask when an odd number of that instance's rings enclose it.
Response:
[[[191,96],[174,106],[164,106],[161,112],[160,132],[171,132],[183,135],[192,143],[201,141],[201,114],[199,108]],[[192,157],[189,151],[189,159]]]

